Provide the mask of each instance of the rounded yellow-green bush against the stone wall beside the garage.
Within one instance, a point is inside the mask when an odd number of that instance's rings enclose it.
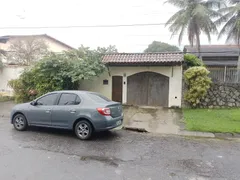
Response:
[[[191,106],[196,107],[206,96],[212,83],[209,73],[205,67],[192,67],[185,71],[184,79],[188,90],[184,98]]]

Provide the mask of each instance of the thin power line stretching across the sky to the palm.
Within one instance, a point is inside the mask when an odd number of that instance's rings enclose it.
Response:
[[[106,27],[141,27],[141,26],[163,26],[166,23],[150,24],[107,24],[107,25],[72,25],[72,26],[6,26],[0,29],[68,29],[68,28],[106,28]]]

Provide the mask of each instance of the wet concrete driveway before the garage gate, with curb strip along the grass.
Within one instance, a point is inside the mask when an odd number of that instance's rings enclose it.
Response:
[[[215,137],[213,133],[185,130],[182,110],[162,107],[124,106],[123,128],[159,134]]]

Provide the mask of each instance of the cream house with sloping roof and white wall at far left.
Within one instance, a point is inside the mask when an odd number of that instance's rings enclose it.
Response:
[[[11,36],[1,36],[0,37],[0,50],[2,53],[8,53],[9,47],[12,43],[16,41],[24,41],[29,38],[36,38],[44,40],[46,45],[48,46],[48,50],[60,53],[62,51],[72,50],[71,46],[51,37],[47,34],[42,35],[11,35]],[[26,41],[27,42],[27,41]],[[4,60],[3,60],[4,61]],[[5,59],[5,66],[3,69],[0,69],[0,95],[1,94],[12,94],[12,89],[8,86],[8,81],[11,79],[16,79],[19,77],[21,72],[24,70],[25,66],[19,65],[10,65]],[[11,64],[14,64],[10,62]]]

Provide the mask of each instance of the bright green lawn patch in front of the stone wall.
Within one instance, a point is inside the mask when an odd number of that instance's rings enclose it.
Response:
[[[240,133],[240,109],[184,109],[191,131]]]

